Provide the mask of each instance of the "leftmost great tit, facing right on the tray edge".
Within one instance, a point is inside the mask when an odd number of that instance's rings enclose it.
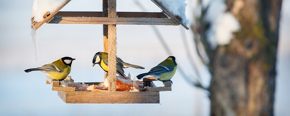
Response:
[[[68,76],[68,74],[70,74],[70,67],[73,60],[75,59],[71,57],[63,57],[50,64],[46,64],[38,68],[30,68],[24,71],[26,73],[29,73],[31,71],[41,71],[53,80],[62,81]]]

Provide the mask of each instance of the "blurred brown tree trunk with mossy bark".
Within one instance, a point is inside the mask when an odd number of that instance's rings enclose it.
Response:
[[[273,115],[281,0],[226,0],[226,6],[241,26],[229,45],[210,49],[205,11],[199,20],[212,74],[211,115]]]

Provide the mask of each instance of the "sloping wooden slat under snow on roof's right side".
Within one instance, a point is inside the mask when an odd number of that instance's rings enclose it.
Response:
[[[162,6],[161,3],[159,3],[157,0],[151,0],[153,3],[155,3],[161,10],[165,11],[168,17],[170,17],[175,23],[181,24],[186,30],[189,29],[186,25],[184,25],[175,15],[173,15],[169,10],[167,10],[164,6]]]

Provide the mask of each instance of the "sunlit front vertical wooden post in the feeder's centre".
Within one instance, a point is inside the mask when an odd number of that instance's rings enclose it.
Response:
[[[116,18],[116,0],[108,0],[108,17]],[[116,25],[108,26],[109,91],[116,91]]]

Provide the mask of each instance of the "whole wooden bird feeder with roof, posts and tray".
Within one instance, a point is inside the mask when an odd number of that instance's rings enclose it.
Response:
[[[57,90],[58,96],[65,103],[156,103],[160,102],[160,91],[171,91],[171,82],[156,87],[154,78],[144,78],[143,85],[149,86],[146,91],[128,92],[116,91],[116,25],[182,25],[189,29],[178,15],[173,15],[162,4],[151,0],[162,12],[116,12],[116,0],[103,0],[103,12],[60,12],[71,0],[65,1],[53,12],[44,14],[41,22],[31,19],[31,26],[37,30],[44,23],[54,24],[103,24],[104,52],[108,52],[108,91],[76,91],[75,87],[60,87],[59,81],[50,81],[52,90]],[[118,16],[118,17],[117,17]],[[86,83],[88,85],[99,84]]]

